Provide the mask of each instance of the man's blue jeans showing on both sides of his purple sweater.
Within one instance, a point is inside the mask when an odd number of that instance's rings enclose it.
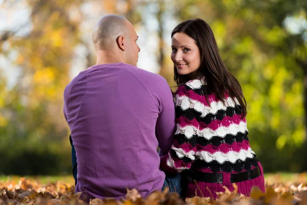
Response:
[[[72,146],[72,163],[73,163],[73,176],[75,179],[75,185],[77,185],[77,157],[75,146],[73,145],[73,140],[71,135],[69,136],[69,140]],[[173,175],[169,175],[165,177],[162,191],[164,191],[165,187],[168,187],[169,192],[176,192],[179,196],[182,197],[182,173],[177,173]]]

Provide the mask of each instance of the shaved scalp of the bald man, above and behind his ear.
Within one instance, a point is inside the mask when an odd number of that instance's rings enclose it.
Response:
[[[99,19],[93,32],[93,44],[95,49],[109,49],[116,44],[116,38],[126,35],[131,23],[124,17],[106,15]]]

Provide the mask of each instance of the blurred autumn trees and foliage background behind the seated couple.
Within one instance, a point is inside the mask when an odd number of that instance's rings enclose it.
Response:
[[[0,0],[0,175],[71,174],[63,90],[96,63],[92,30],[106,14],[135,26],[138,67],[170,86],[172,29],[204,19],[243,88],[265,172],[307,171],[306,0]]]

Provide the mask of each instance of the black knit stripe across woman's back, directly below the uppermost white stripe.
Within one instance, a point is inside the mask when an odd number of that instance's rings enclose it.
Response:
[[[176,107],[176,118],[184,116],[189,120],[196,118],[196,120],[204,122],[206,125],[209,125],[211,121],[217,119],[222,120],[225,116],[232,117],[234,114],[241,115],[242,110],[241,106],[237,105],[233,107],[227,107],[226,110],[218,110],[215,114],[209,113],[205,117],[201,117],[202,113],[198,112],[192,108],[188,108],[187,110],[182,110],[181,107]]]

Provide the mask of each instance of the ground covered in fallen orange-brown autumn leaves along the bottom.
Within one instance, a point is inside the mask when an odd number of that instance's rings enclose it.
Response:
[[[127,190],[122,200],[92,199],[91,205],[133,205],[133,204],[307,204],[306,174],[293,179],[280,180],[278,177],[266,180],[266,193],[253,188],[251,197],[245,197],[225,188],[224,193],[218,193],[219,198],[212,200],[209,197],[195,196],[182,200],[177,194],[153,192],[143,199],[137,190]],[[55,181],[41,184],[38,180],[20,177],[19,181],[0,181],[0,205],[2,204],[85,204],[79,199],[81,193],[74,194],[71,183]]]

